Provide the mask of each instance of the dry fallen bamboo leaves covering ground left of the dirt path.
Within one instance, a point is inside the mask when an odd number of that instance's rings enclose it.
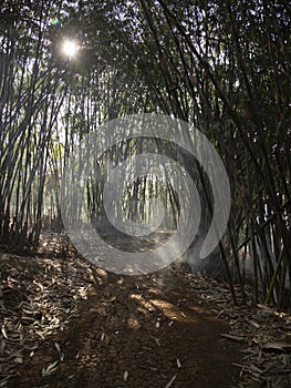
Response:
[[[46,336],[77,316],[79,303],[101,282],[89,263],[73,255],[61,261],[59,236],[51,235],[42,237],[53,255],[48,249],[34,257],[0,253],[0,387],[18,375],[25,355],[33,357]],[[63,361],[60,345],[54,346]],[[42,376],[55,372],[58,363],[44,366]]]

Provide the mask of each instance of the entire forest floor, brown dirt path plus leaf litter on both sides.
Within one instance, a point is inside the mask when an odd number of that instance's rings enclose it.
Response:
[[[121,276],[42,243],[0,254],[0,387],[291,386],[289,314],[183,265]]]

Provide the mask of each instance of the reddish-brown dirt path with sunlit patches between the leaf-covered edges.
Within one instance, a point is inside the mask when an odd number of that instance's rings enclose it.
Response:
[[[231,363],[239,353],[220,337],[229,330],[227,323],[214,316],[175,269],[142,277],[104,272],[101,278],[80,303],[79,317],[24,359],[10,388],[235,384],[238,369]],[[42,376],[43,368],[49,376]]]

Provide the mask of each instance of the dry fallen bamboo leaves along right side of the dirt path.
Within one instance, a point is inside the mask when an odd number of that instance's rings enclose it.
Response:
[[[240,381],[235,387],[291,387],[290,313],[263,304],[233,305],[226,283],[193,274],[187,278],[202,302],[212,306],[214,314],[229,323],[230,333],[220,336],[241,346],[242,363],[233,363],[240,369]],[[240,296],[238,286],[236,292]]]

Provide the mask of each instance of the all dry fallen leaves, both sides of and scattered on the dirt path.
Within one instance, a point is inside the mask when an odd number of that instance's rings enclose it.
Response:
[[[25,258],[0,254],[0,387],[4,387],[17,376],[25,355],[33,357],[48,335],[63,330],[77,317],[79,303],[87,298],[93,284],[102,284],[102,277],[87,262],[73,255],[61,261],[58,255]],[[221,340],[236,341],[241,347],[241,363],[233,363],[240,369],[237,388],[291,386],[290,314],[260,304],[235,306],[227,284],[175,270],[199,293],[201,303],[209,305],[214,315],[229,323],[230,333],[222,334]],[[167,326],[174,324],[172,319]],[[155,327],[159,325],[156,321]],[[159,339],[152,337],[160,347]],[[101,341],[104,339],[103,333]],[[43,366],[43,377],[53,375],[64,360],[60,344],[54,343],[54,347],[60,359]],[[178,358],[176,364],[180,370]],[[125,370],[124,381],[127,378]],[[165,387],[173,386],[176,378],[177,374]]]

